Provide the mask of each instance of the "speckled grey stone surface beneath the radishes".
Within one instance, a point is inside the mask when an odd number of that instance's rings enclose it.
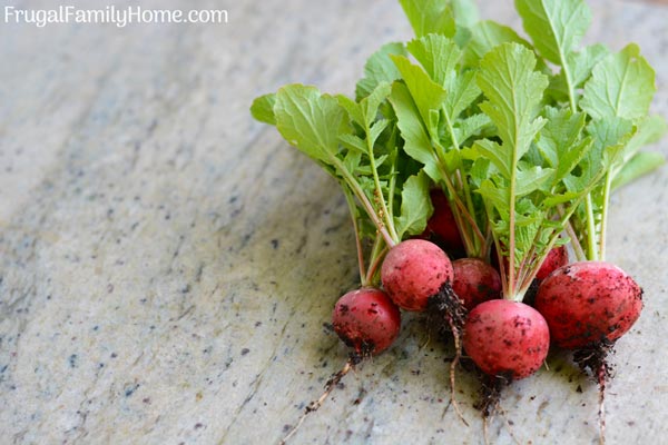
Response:
[[[345,362],[326,327],[356,280],[344,199],[248,107],[292,81],[350,92],[410,28],[393,1],[226,4],[226,24],[0,24],[0,442],[276,443]],[[508,0],[479,4],[519,23]],[[668,8],[590,4],[588,41],[638,41],[668,116]],[[612,358],[607,438],[659,443],[668,169],[613,200],[609,259],[646,309]],[[451,350],[421,322],[293,443],[482,443],[478,384],[460,373],[466,427],[448,409]],[[596,386],[566,355],[549,365],[505,390],[492,443],[597,442]]]

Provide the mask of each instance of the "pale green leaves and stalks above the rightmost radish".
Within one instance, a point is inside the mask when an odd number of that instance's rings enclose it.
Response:
[[[583,0],[515,0],[515,4],[537,53],[559,69],[550,76],[552,102],[568,107],[573,116],[584,115],[581,131],[592,148],[578,168],[603,161],[605,175],[570,222],[578,256],[603,259],[610,192],[664,162],[660,154],[639,151],[666,131],[664,119],[648,115],[655,72],[635,43],[619,52],[602,44],[579,48],[591,22]],[[567,185],[571,190],[581,187],[573,180]]]

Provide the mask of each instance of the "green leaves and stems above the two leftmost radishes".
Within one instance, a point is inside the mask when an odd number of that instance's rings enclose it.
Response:
[[[395,118],[386,106],[392,91],[387,78],[375,76],[373,86],[366,83],[370,93],[358,100],[288,85],[257,98],[250,109],[342,186],[355,227],[363,286],[377,281],[386,248],[422,233],[433,211],[429,178],[400,150]],[[369,263],[365,240],[372,245]]]

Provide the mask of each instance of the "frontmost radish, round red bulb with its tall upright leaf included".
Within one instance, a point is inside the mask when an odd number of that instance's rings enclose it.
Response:
[[[548,79],[534,71],[534,67],[533,52],[504,43],[481,59],[477,73],[477,82],[487,98],[480,107],[498,126],[501,140],[501,145],[488,139],[477,141],[472,149],[497,169],[489,171],[490,178],[481,180],[477,191],[492,221],[503,299],[481,303],[471,310],[464,324],[463,344],[483,373],[507,382],[533,374],[548,353],[547,323],[521,301],[560,231],[559,225],[543,210],[534,210],[533,199],[541,197],[541,179],[536,176],[539,171],[527,175],[520,161],[544,123],[537,116],[537,107]],[[527,87],[530,90],[517,97],[517,91]],[[522,138],[513,137],[515,132],[522,134]],[[529,219],[533,224],[531,230],[527,230]]]

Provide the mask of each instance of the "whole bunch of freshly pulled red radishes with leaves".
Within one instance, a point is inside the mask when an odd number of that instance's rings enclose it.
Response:
[[[252,107],[341,185],[355,233],[360,288],[333,310],[351,355],[305,414],[425,312],[454,338],[451,392],[462,353],[498,387],[574,350],[602,441],[606,354],[642,308],[605,261],[609,198],[664,161],[639,150],[666,129],[654,70],[635,44],[580,48],[583,0],[515,0],[532,42],[470,1],[400,3],[415,38],[381,47],[354,99],[288,85]]]

